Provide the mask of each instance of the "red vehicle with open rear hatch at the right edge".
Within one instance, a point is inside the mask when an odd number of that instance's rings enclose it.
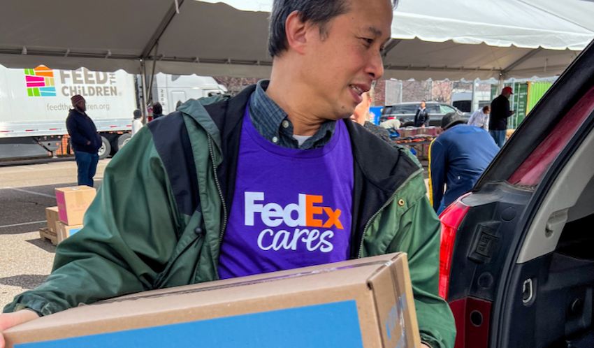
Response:
[[[456,348],[594,347],[594,41],[440,216]]]

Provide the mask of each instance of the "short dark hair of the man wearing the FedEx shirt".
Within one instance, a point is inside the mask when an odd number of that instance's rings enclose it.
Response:
[[[298,11],[299,19],[310,21],[319,26],[319,34],[326,36],[326,24],[334,17],[349,12],[349,2],[353,0],[274,0],[273,10],[270,11],[270,27],[268,27],[268,53],[272,57],[280,56],[287,50],[287,32],[284,24],[287,17]],[[393,8],[398,6],[398,0],[392,0]]]

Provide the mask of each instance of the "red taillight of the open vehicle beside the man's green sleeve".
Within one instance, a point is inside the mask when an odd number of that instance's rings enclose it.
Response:
[[[466,195],[465,195],[466,196]],[[462,196],[440,215],[442,223],[442,238],[440,243],[440,296],[447,299],[449,290],[449,274],[451,268],[451,255],[454,252],[454,242],[456,242],[456,231],[462,223],[462,220],[468,212],[467,205],[462,203]]]

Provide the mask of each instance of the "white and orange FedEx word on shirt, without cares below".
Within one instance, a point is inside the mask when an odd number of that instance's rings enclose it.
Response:
[[[268,227],[285,224],[289,227],[344,229],[340,222],[340,209],[324,207],[323,196],[299,194],[297,203],[290,203],[285,207],[277,203],[263,204],[263,201],[263,192],[245,192],[245,226],[254,226],[254,219],[259,215],[263,224]]]

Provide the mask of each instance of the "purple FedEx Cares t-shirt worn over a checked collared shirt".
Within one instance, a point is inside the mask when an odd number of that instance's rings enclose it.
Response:
[[[246,110],[219,277],[348,259],[352,192],[353,155],[344,121],[336,122],[324,147],[297,150],[263,138]]]

